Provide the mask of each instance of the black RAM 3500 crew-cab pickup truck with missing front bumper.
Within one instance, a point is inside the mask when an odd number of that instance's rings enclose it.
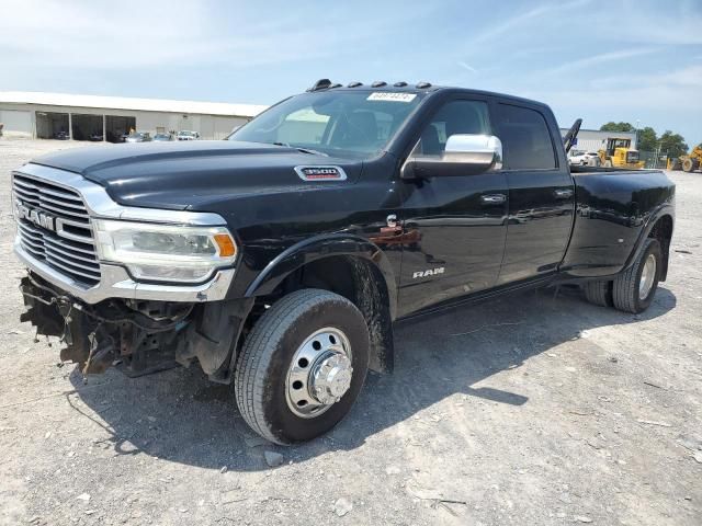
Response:
[[[396,320],[553,284],[643,311],[673,195],[658,171],[569,168],[537,102],[322,80],[228,140],[14,171],[22,319],[83,374],[196,362],[291,444],[337,424],[369,368],[392,370]]]

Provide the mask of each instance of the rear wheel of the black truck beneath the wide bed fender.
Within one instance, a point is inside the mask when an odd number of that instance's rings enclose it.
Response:
[[[656,239],[647,238],[634,264],[614,279],[614,308],[635,315],[646,310],[656,295],[661,268],[660,243]]]

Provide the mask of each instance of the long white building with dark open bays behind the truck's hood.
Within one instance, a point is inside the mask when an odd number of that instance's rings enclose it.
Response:
[[[5,137],[120,141],[129,133],[192,130],[223,139],[265,110],[253,104],[169,101],[42,92],[0,92]],[[91,139],[92,137],[92,139]]]

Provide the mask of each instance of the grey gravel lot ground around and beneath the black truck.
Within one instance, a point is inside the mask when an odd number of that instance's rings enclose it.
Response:
[[[702,524],[702,174],[670,174],[646,313],[540,290],[400,325],[396,373],[280,448],[195,368],[86,384],[19,322],[10,169],[66,147],[0,140],[0,524]]]

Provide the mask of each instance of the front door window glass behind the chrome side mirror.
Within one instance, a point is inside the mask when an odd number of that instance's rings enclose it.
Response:
[[[422,130],[415,156],[441,156],[446,139],[456,134],[491,134],[486,102],[452,101],[444,104]]]

